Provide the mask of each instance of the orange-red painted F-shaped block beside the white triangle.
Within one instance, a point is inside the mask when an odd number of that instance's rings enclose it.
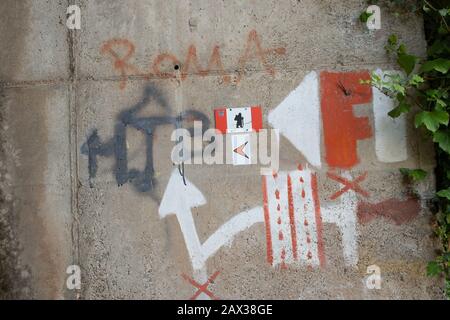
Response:
[[[325,159],[330,167],[349,169],[356,165],[358,140],[372,137],[369,119],[353,114],[354,105],[372,101],[371,87],[360,84],[368,79],[367,71],[320,74]]]

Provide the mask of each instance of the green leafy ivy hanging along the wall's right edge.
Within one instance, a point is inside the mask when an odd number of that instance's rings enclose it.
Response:
[[[372,2],[372,1],[371,1]],[[408,52],[397,35],[389,36],[386,52],[393,56],[401,72],[373,73],[370,84],[396,101],[389,116],[396,118],[413,113],[415,127],[435,143],[436,202],[434,233],[441,247],[434,261],[427,266],[427,274],[445,279],[445,293],[450,298],[450,3],[448,0],[382,0],[394,16],[423,14],[427,36],[427,57],[419,58]],[[375,2],[375,4],[376,4]],[[405,12],[407,3],[419,3]],[[399,14],[400,13],[400,14]],[[421,169],[401,168],[411,182],[426,177]]]

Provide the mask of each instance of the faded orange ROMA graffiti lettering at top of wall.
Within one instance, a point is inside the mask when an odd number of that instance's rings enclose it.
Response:
[[[223,83],[230,83],[230,72],[227,72],[223,66],[222,58],[220,55],[220,47],[214,46],[211,56],[206,64],[206,68],[203,68],[200,59],[197,56],[197,48],[195,45],[190,45],[184,61],[178,59],[172,53],[160,53],[158,54],[148,71],[140,71],[132,63],[132,57],[136,51],[136,46],[128,39],[111,39],[106,41],[100,49],[100,52],[109,56],[112,59],[113,67],[120,73],[120,89],[124,89],[127,85],[128,76],[143,76],[145,79],[156,78],[176,78],[178,71],[181,73],[181,80],[185,80],[189,74],[207,76],[212,73],[216,73],[222,77]],[[278,48],[263,48],[261,39],[256,30],[249,32],[244,51],[237,63],[237,78],[235,82],[238,83],[242,75],[245,72],[247,64],[252,59],[257,59],[262,68],[269,75],[275,74],[275,68],[268,62],[270,55],[284,55],[286,49],[284,47]],[[164,64],[172,65],[171,72],[161,70]]]

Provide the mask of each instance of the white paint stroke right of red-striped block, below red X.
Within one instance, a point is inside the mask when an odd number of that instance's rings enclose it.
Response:
[[[348,172],[342,174],[352,180]],[[358,233],[356,229],[358,198],[353,190],[349,190],[339,197],[337,204],[322,207],[322,219],[325,223],[334,223],[342,234],[344,262],[348,266],[358,264]],[[338,200],[337,200],[338,201]]]

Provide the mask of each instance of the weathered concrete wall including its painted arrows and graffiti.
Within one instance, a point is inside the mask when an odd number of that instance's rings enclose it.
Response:
[[[81,30],[65,25],[69,4]],[[442,298],[433,152],[359,83],[423,22],[365,1],[0,2],[2,248],[10,296]],[[344,88],[344,89],[343,89]],[[175,124],[260,106],[280,171],[171,160]],[[177,118],[178,117],[178,118]],[[228,148],[229,152],[232,152]],[[415,186],[398,168],[430,171]],[[81,267],[81,290],[66,268]],[[377,265],[381,289],[367,286]],[[208,290],[195,286],[210,280]],[[11,293],[12,292],[12,293]]]

